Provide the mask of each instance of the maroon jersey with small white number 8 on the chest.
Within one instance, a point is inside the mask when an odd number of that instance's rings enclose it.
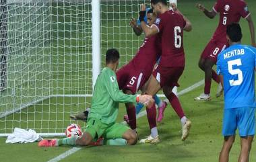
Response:
[[[226,26],[239,22],[240,18],[250,15],[247,4],[243,0],[218,0],[212,9],[220,13],[220,20],[212,40],[226,42]]]

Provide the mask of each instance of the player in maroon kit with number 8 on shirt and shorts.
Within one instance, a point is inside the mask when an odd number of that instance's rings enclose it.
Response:
[[[256,46],[255,32],[251,13],[248,10],[247,4],[243,0],[218,0],[214,7],[212,7],[212,11],[208,11],[201,4],[197,4],[196,7],[211,19],[213,19],[217,13],[220,13],[218,27],[214,32],[214,36],[212,36],[212,39],[203,50],[198,63],[199,68],[205,72],[205,85],[204,93],[195,97],[195,100],[207,101],[211,99],[210,89],[212,79],[219,84],[216,97],[219,97],[222,94],[220,79],[212,67],[216,64],[218,54],[228,46],[228,42],[226,41],[226,26],[232,22],[239,22],[241,17],[247,19],[251,32],[251,44],[253,46]]]

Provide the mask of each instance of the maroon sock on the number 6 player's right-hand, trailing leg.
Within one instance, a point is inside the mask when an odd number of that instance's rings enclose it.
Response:
[[[172,106],[174,111],[177,113],[177,115],[180,118],[183,118],[183,116],[185,116],[185,114],[183,112],[183,108],[181,107],[181,103],[179,102],[177,95],[175,95],[174,93],[170,93],[170,95],[168,95],[166,97],[169,99],[170,105]]]

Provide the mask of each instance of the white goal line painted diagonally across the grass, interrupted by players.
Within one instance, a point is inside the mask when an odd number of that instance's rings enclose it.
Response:
[[[186,89],[183,89],[182,91],[178,92],[178,95],[184,95],[185,93],[188,93],[189,91],[192,91],[193,89],[203,85],[204,83],[204,80],[201,80],[189,87],[187,87]],[[141,118],[142,116],[146,116],[147,112],[146,110],[144,110],[143,112],[140,112],[138,115],[137,115],[137,118]],[[122,123],[125,123],[125,122],[122,122]],[[62,159],[64,159],[65,157],[68,157],[69,155],[72,155],[73,153],[79,151],[80,149],[82,149],[81,147],[73,147],[72,149],[66,151],[65,153],[62,153],[61,155],[51,159],[50,161],[48,162],[58,162],[58,161],[61,161]]]

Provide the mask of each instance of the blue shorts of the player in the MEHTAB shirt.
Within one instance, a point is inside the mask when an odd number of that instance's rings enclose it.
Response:
[[[240,136],[255,134],[255,108],[224,109],[222,134],[224,136],[235,135],[237,128]]]

